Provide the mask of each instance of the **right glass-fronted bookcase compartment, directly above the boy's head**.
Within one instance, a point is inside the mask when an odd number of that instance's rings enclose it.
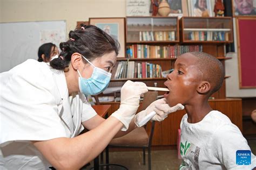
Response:
[[[182,17],[181,41],[186,43],[219,44],[233,42],[231,17]]]

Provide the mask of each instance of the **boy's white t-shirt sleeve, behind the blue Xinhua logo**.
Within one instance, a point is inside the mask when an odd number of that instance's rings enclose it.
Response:
[[[250,150],[247,140],[234,124],[221,126],[213,138],[215,155],[227,169],[252,169],[256,166],[256,157],[251,153],[251,165],[237,165],[237,151]]]

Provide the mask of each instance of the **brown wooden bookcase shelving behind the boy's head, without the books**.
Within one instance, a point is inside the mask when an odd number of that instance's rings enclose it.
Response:
[[[167,24],[166,24],[167,23]],[[162,26],[162,27],[161,27]],[[179,29],[180,28],[180,29]],[[176,31],[174,34],[177,35],[173,41],[144,41],[143,38],[139,37],[139,32],[143,31]],[[227,31],[230,33],[230,37],[228,37],[228,41],[191,41],[184,39],[186,36],[186,32],[188,30],[191,31]],[[166,47],[172,51],[172,47],[180,49],[181,46],[199,46],[199,51],[203,51],[215,56],[219,59],[223,65],[225,66],[225,60],[231,59],[225,57],[224,52],[224,45],[226,43],[233,41],[232,36],[232,19],[231,17],[183,17],[178,20],[177,17],[127,17],[126,18],[126,49],[131,48],[131,46],[161,46]],[[131,34],[137,35],[137,40],[134,40]],[[154,38],[156,39],[156,38]],[[177,47],[179,46],[179,47]],[[196,47],[194,47],[196,48]],[[133,49],[133,48],[132,48]],[[175,49],[176,50],[176,49]],[[164,81],[166,81],[165,77],[114,77],[115,73],[117,72],[117,67],[119,62],[123,61],[134,61],[134,64],[142,63],[142,62],[149,62],[152,65],[160,65],[161,71],[170,70],[174,67],[174,62],[176,61],[178,55],[187,51],[178,52],[174,57],[173,56],[156,56],[154,54],[147,55],[142,58],[138,58],[138,56],[126,56],[127,58],[118,58],[116,67],[112,71],[112,78],[110,82],[110,87],[117,87],[123,86],[125,81],[132,80],[132,81],[142,81],[148,84],[148,86],[154,86],[154,83],[157,83],[158,87],[164,87]],[[134,53],[134,52],[132,52]],[[127,55],[127,54],[126,54]],[[226,75],[225,79],[230,76]],[[225,81],[223,86],[219,91],[214,93],[211,97],[213,98],[226,98],[225,94]],[[164,92],[159,92],[159,95],[163,95]]]

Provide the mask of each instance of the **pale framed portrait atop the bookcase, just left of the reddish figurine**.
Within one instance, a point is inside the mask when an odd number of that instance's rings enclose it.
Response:
[[[191,0],[188,1],[190,4],[188,4],[188,8],[190,10],[190,16],[191,17],[203,17],[205,15],[204,11],[200,9],[202,7],[201,5],[204,5],[204,8],[206,9],[209,17],[213,17],[213,6],[211,3],[211,0]],[[204,2],[204,4],[201,4],[200,2]]]

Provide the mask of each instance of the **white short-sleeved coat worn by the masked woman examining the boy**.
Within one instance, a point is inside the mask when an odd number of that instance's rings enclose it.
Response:
[[[29,59],[0,80],[0,169],[48,169],[30,141],[77,136],[96,115],[83,94],[69,96],[64,72],[48,63]]]

